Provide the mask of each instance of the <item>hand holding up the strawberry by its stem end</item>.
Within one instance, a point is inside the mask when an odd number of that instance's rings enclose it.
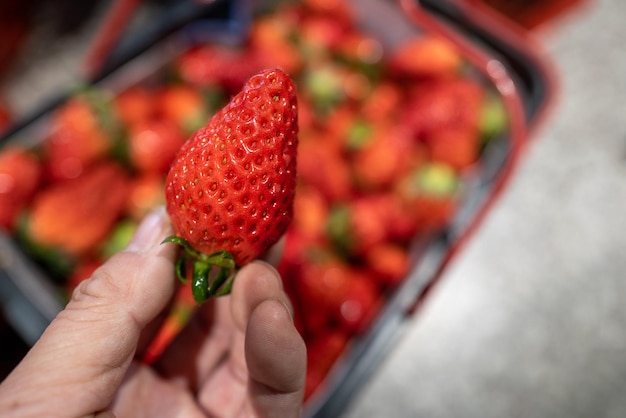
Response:
[[[306,348],[278,273],[255,261],[201,305],[151,367],[135,359],[167,313],[175,246],[163,210],[74,291],[0,385],[3,417],[295,417]],[[115,414],[115,415],[113,415]]]

